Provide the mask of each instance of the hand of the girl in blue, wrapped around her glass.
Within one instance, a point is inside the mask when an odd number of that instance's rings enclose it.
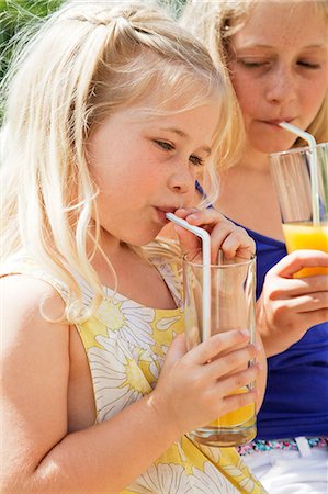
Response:
[[[308,328],[328,321],[328,276],[293,278],[302,268],[328,266],[320,250],[296,250],[268,271],[257,302],[257,326],[265,355],[280,353]]]

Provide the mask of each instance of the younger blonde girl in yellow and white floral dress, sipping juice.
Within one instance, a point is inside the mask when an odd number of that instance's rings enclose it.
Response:
[[[186,353],[180,248],[154,242],[170,211],[213,255],[253,250],[190,207],[234,125],[208,54],[148,2],[72,1],[5,90],[1,492],[263,492],[236,450],[184,436],[253,402],[234,390],[258,375],[261,400],[260,349],[236,330]]]

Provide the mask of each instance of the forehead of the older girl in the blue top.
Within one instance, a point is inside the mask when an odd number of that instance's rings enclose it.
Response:
[[[327,45],[328,24],[314,1],[269,0],[257,2],[233,44],[268,46]]]

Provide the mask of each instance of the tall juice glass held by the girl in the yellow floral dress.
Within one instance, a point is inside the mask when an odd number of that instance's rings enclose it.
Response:
[[[222,254],[222,252],[220,252]],[[218,256],[210,266],[211,324],[210,333],[248,329],[250,343],[255,343],[255,287],[256,259],[226,259]],[[184,318],[186,346],[190,350],[204,339],[203,332],[203,260],[201,250],[183,257]],[[207,336],[210,336],[207,334]],[[253,362],[249,362],[249,366]],[[246,393],[255,386],[235,390]],[[207,446],[239,446],[249,442],[257,434],[256,404],[217,417],[211,424],[189,433],[189,436]]]

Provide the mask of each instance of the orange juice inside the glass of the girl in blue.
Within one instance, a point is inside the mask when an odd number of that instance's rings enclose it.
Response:
[[[285,223],[283,225],[287,252],[299,249],[315,249],[328,252],[328,224],[321,223],[314,226],[312,223]],[[328,274],[328,268],[305,268],[297,272],[296,277],[312,274]]]

